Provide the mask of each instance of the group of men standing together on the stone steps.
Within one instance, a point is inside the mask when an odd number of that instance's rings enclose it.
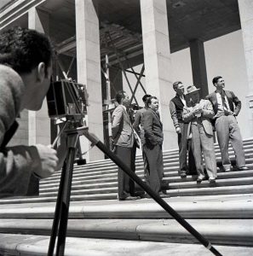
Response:
[[[216,131],[221,149],[221,168],[231,170],[228,155],[228,143],[231,142],[238,170],[244,171],[245,157],[243,140],[239,131],[236,116],[239,114],[241,102],[233,91],[224,90],[225,82],[221,76],[213,79],[216,90],[205,99],[200,99],[198,88],[184,85],[178,81],[173,84],[175,97],[170,101],[170,115],[178,136],[180,176],[198,174],[197,182],[206,177],[210,183],[216,182],[217,165],[214,146]],[[158,113],[158,98],[145,95],[142,100],[144,108],[137,110],[134,122],[129,118],[129,96],[124,91],[116,96],[118,107],[112,113],[112,139],[115,153],[124,164],[135,172],[135,151],[141,138],[144,173],[147,184],[158,195],[162,192],[163,163],[163,124]],[[203,156],[202,156],[203,155]],[[188,164],[187,164],[188,160]],[[140,198],[135,191],[135,183],[118,169],[118,200],[135,200]]]

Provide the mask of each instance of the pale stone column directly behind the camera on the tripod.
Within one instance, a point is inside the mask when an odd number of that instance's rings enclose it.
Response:
[[[78,83],[86,84],[89,93],[89,131],[103,142],[99,20],[92,0],[76,0],[75,4]],[[86,151],[89,148],[88,141],[85,139],[81,143]],[[86,159],[101,160],[104,155],[98,148],[92,148]]]

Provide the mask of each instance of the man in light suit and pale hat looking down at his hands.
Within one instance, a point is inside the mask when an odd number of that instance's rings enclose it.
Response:
[[[203,153],[209,181],[214,183],[217,177],[217,166],[213,127],[210,122],[213,119],[214,110],[209,101],[199,101],[198,90],[194,85],[187,87],[188,102],[192,106],[184,107],[183,119],[191,122],[193,155],[198,172],[197,182],[204,179]]]

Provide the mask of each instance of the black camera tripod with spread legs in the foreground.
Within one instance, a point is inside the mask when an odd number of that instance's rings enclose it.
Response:
[[[55,247],[55,239],[57,236],[57,227],[59,225],[58,231],[58,242],[56,248],[56,256],[63,256],[65,249],[65,241],[66,241],[66,227],[67,227],[67,218],[68,218],[68,208],[70,201],[70,192],[72,185],[72,170],[73,170],[73,160],[75,156],[75,145],[77,144],[78,137],[80,135],[84,135],[89,139],[89,141],[96,145],[97,148],[100,148],[101,151],[106,154],[116,165],[118,165],[124,172],[126,172],[130,178],[132,178],[135,183],[139,184],[139,186],[144,189],[148,195],[152,197],[154,201],[156,201],[161,207],[164,208],[166,212],[170,214],[175,220],[181,224],[189,233],[191,233],[201,244],[204,245],[207,249],[210,250],[216,256],[222,256],[215,247],[212,246],[210,241],[208,241],[204,236],[198,233],[187,221],[181,217],[179,213],[177,213],[172,207],[170,207],[166,201],[164,201],[159,195],[155,194],[152,189],[146,184],[143,183],[141,178],[138,177],[135,172],[132,172],[129,166],[126,166],[122,160],[120,160],[117,155],[114,155],[111,150],[106,148],[106,146],[101,143],[101,141],[95,137],[95,135],[89,133],[88,127],[79,127],[74,130],[66,131],[68,138],[68,153],[66,157],[66,162],[62,170],[62,174],[60,177],[60,188],[59,194],[55,207],[55,218],[53,222],[53,228],[51,232],[50,242],[49,242],[49,253],[48,256],[53,256],[54,247]]]

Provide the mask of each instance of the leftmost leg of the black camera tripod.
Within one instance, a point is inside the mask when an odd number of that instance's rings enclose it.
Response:
[[[60,184],[59,184],[59,190],[58,190],[58,195],[57,195],[57,201],[56,201],[56,205],[55,205],[55,217],[54,217],[54,222],[53,222],[50,241],[49,241],[48,256],[54,255],[55,240],[56,240],[58,224],[59,224],[59,220],[60,220],[62,192],[63,192],[64,183],[65,183],[65,176],[66,176],[66,162],[64,163],[64,166],[62,167],[62,171],[61,171],[61,175],[60,175]]]

